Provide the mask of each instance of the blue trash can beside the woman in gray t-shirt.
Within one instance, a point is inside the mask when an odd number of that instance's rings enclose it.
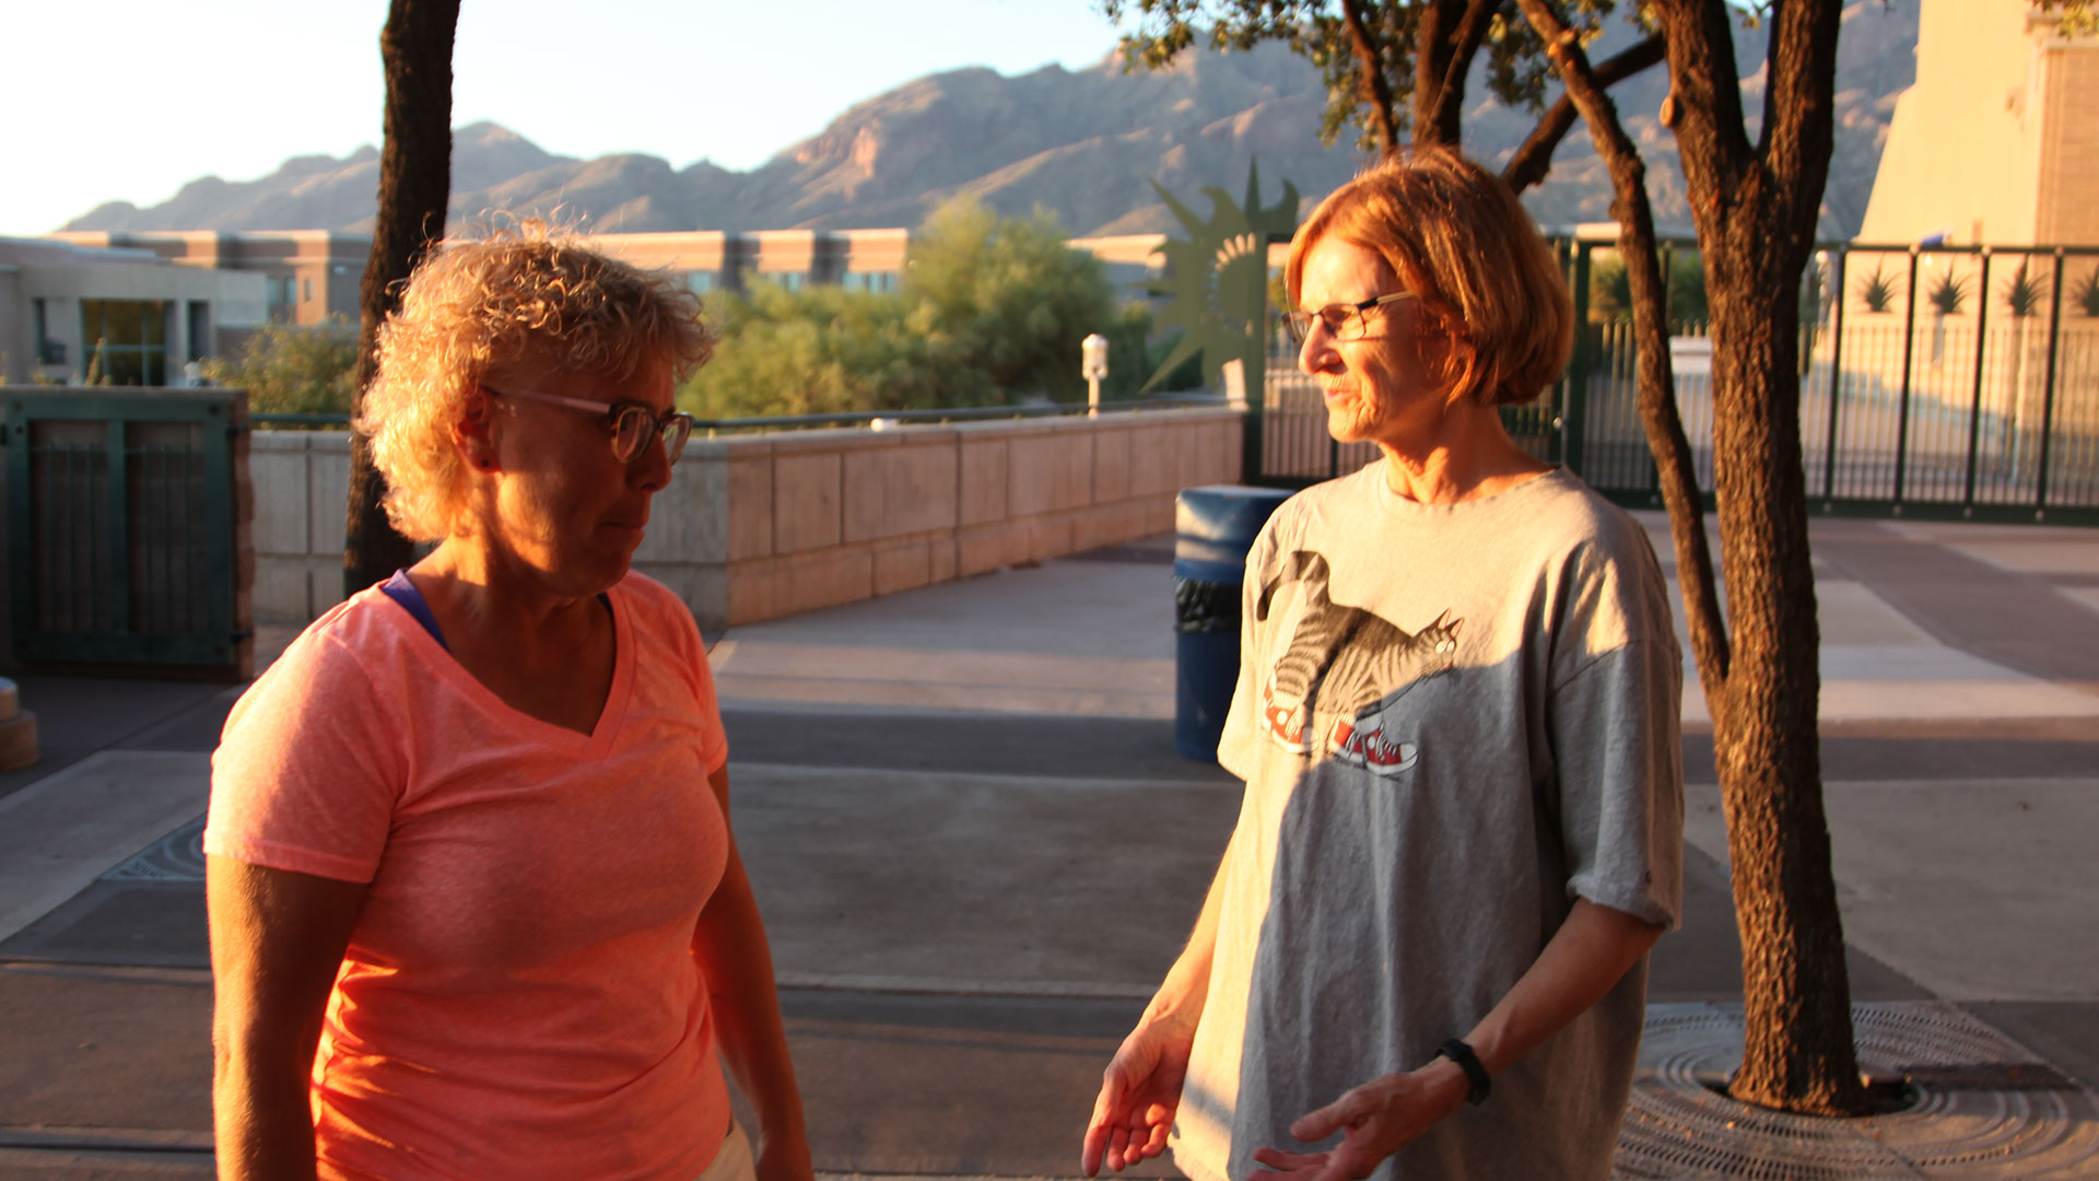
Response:
[[[1291,494],[1278,488],[1188,488],[1173,500],[1173,750],[1217,761],[1238,685],[1238,588],[1247,551]]]

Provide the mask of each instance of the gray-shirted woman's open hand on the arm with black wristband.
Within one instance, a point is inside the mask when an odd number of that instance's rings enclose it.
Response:
[[[1255,1168],[1247,1181],[1362,1181],[1387,1156],[1465,1105],[1471,1082],[1448,1059],[1436,1059],[1406,1074],[1383,1074],[1341,1095],[1333,1103],[1291,1124],[1299,1141],[1343,1133],[1327,1152],[1253,1149]]]

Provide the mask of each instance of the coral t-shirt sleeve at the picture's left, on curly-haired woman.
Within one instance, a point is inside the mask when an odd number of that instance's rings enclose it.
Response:
[[[227,719],[204,851],[369,883],[407,782],[405,725],[340,639],[302,637]]]

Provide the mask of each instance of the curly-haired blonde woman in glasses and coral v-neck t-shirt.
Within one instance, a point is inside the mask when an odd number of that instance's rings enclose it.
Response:
[[[357,429],[437,548],[212,757],[220,1177],[808,1181],[705,651],[630,569],[709,345],[531,225],[409,279]]]

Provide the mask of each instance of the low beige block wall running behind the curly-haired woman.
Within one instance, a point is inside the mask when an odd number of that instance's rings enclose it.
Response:
[[[1241,479],[1232,410],[693,439],[636,569],[726,628],[1173,530],[1173,496]],[[348,435],[258,431],[256,616],[342,593]]]

